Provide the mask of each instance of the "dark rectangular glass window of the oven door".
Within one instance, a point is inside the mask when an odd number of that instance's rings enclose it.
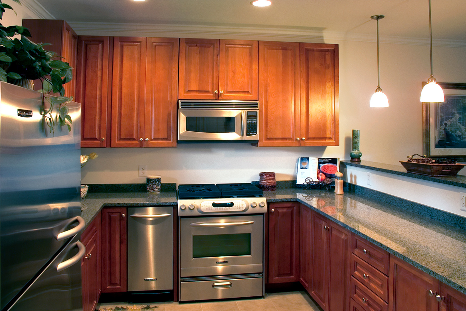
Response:
[[[251,234],[194,235],[192,256],[219,257],[251,255]]]

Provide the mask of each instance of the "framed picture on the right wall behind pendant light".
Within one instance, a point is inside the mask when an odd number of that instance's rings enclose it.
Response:
[[[423,154],[466,161],[466,83],[438,84],[445,102],[422,103]]]

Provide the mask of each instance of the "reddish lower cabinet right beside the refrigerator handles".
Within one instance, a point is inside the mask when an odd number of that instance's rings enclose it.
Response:
[[[101,289],[100,213],[81,235],[86,255],[81,259],[82,311],[94,311]]]

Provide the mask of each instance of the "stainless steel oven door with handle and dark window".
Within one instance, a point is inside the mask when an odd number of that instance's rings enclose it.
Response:
[[[262,273],[263,215],[180,219],[180,276]]]

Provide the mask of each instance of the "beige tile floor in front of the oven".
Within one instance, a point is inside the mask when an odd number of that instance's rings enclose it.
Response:
[[[130,305],[133,304],[98,304],[96,309]],[[157,305],[157,311],[322,311],[305,291],[270,293],[264,298],[254,299],[195,303],[162,302],[150,305]]]

